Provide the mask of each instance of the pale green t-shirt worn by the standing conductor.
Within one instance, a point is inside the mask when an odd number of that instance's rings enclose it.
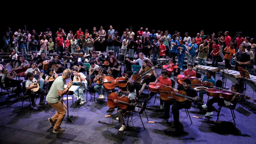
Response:
[[[46,96],[46,101],[50,103],[59,102],[61,97],[59,96],[58,90],[64,90],[64,80],[62,76],[57,77],[52,83],[52,86]]]

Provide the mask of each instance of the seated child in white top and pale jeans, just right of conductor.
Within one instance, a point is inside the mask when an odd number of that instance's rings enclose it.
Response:
[[[73,74],[74,74],[74,78],[73,78],[73,82],[75,81],[75,79],[78,76],[78,81],[80,81],[81,83],[84,83],[85,88],[87,87],[87,81],[85,80],[86,76],[84,76],[83,73],[78,73],[78,70],[75,68],[73,69]],[[77,81],[77,80],[76,80]],[[74,98],[77,98],[77,100],[79,100],[79,98],[81,99],[80,105],[84,104],[85,99],[84,99],[84,89],[78,89],[78,91],[76,91],[73,94]]]

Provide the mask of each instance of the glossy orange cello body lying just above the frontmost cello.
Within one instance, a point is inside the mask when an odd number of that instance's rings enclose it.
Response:
[[[105,88],[111,90],[115,87],[125,87],[127,85],[127,80],[124,77],[117,77],[116,79],[111,76],[105,76],[103,78],[103,85]],[[112,107],[113,108],[113,107]]]

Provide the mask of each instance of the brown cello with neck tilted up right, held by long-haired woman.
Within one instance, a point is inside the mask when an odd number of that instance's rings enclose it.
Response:
[[[158,63],[154,68],[161,65],[163,62]],[[132,81],[139,82],[140,84],[144,84],[147,78],[151,78],[154,76],[154,72],[152,71],[152,68],[144,68],[141,74],[135,74],[132,76]]]

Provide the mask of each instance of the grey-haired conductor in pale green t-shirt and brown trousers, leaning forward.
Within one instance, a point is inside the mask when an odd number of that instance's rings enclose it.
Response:
[[[50,122],[51,126],[53,127],[54,133],[60,133],[65,132],[65,129],[60,128],[60,124],[62,123],[62,120],[64,116],[66,115],[66,109],[67,106],[65,103],[63,103],[63,100],[61,97],[68,92],[68,89],[73,84],[71,80],[69,80],[67,84],[67,88],[64,88],[64,81],[68,79],[71,75],[70,69],[65,69],[63,71],[62,76],[57,77],[54,82],[52,83],[52,86],[46,96],[46,101],[57,110],[57,113],[52,116],[52,118],[48,118],[48,121]],[[56,122],[56,124],[55,124]]]

